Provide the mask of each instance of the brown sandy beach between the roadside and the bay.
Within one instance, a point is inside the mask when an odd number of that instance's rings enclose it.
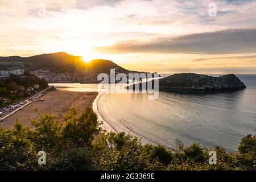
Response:
[[[12,129],[16,118],[22,121],[25,126],[31,126],[29,119],[39,118],[39,115],[35,110],[38,110],[42,114],[51,111],[52,114],[56,114],[60,119],[70,107],[75,107],[78,113],[81,114],[86,107],[92,107],[97,94],[97,92],[54,90],[46,93],[42,97],[44,98],[44,101],[31,103],[24,107],[23,110],[19,110],[6,118],[5,121],[0,123],[0,126],[4,129]]]

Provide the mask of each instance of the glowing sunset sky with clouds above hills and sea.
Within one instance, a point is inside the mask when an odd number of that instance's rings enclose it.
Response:
[[[0,30],[0,56],[64,51],[136,71],[256,73],[256,1],[0,0]]]

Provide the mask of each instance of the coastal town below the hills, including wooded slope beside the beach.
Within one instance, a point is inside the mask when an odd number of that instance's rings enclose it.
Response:
[[[61,73],[52,72],[49,69],[26,71],[15,67],[1,70],[0,122],[23,109],[24,106],[35,101],[42,101],[40,97],[43,93],[52,88],[48,86],[48,83],[94,83],[97,82],[97,75],[98,72],[93,70]]]

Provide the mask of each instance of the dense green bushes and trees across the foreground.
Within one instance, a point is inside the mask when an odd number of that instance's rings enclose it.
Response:
[[[16,121],[13,130],[0,129],[0,170],[255,170],[256,135],[241,140],[237,154],[216,147],[217,164],[208,163],[208,150],[199,143],[178,150],[142,145],[125,133],[102,131],[96,113],[76,109],[64,115],[40,115],[31,120],[34,129]],[[38,164],[38,152],[45,151],[46,165]]]

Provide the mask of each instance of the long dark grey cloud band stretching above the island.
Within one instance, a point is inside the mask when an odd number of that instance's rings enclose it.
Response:
[[[256,29],[232,29],[150,40],[123,40],[113,46],[96,49],[105,53],[250,53],[256,52]]]

